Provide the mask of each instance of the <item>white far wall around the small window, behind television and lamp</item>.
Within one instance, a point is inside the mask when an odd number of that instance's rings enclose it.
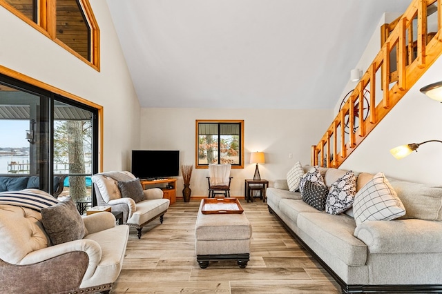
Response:
[[[141,148],[180,150],[182,164],[195,166],[196,119],[244,119],[244,169],[233,169],[231,195],[244,195],[244,179],[253,178],[255,166],[250,153],[265,153],[266,164],[260,165],[262,179],[273,184],[285,179],[296,163],[310,164],[311,145],[332,122],[332,110],[253,110],[198,108],[142,108]],[[289,153],[293,156],[289,158]],[[192,196],[207,195],[207,170],[194,169]],[[182,177],[178,177],[177,197],[182,197]]]

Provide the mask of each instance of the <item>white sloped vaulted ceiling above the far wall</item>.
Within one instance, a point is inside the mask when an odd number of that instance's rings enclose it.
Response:
[[[333,108],[410,0],[106,0],[142,107]]]

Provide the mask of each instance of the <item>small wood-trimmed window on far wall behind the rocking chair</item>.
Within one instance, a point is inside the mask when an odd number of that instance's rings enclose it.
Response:
[[[243,138],[242,120],[197,120],[195,167],[231,164],[232,168],[244,168]]]

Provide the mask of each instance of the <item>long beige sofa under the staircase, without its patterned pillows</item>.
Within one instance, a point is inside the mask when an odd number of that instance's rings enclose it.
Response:
[[[345,170],[320,168],[320,173],[330,186]],[[356,176],[356,189],[373,177]],[[356,225],[352,210],[340,215],[316,210],[299,192],[289,192],[286,180],[267,188],[267,203],[343,293],[442,292],[442,187],[389,181],[406,210],[391,221]]]

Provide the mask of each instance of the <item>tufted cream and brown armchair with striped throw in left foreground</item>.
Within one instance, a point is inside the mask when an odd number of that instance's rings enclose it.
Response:
[[[60,226],[65,237],[54,234]],[[70,198],[59,202],[35,189],[0,193],[0,293],[108,293],[122,269],[128,232],[112,213],[81,217]]]

